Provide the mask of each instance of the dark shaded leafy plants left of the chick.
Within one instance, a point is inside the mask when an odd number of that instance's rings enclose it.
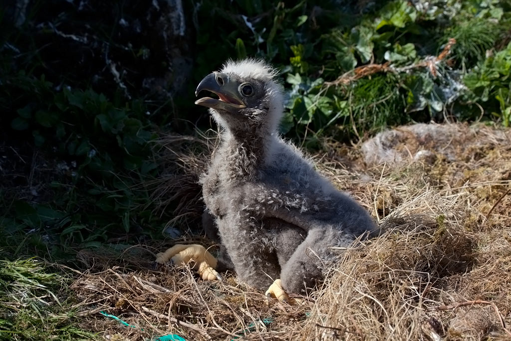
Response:
[[[10,51],[0,64],[0,134],[3,150],[13,152],[4,152],[0,165],[6,173],[0,245],[18,244],[15,254],[72,259],[77,244],[99,247],[161,231],[167,216],[147,209],[150,189],[141,184],[157,172],[151,144],[162,116],[144,98],[127,98],[121,86],[105,95],[89,79],[76,82],[65,68],[55,74],[44,67],[54,61],[32,50],[30,32],[30,26],[18,35],[10,28],[2,41],[29,53]],[[26,176],[16,175],[22,171]]]

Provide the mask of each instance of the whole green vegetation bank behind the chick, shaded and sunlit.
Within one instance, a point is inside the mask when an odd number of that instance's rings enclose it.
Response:
[[[34,1],[23,18],[14,5],[0,9],[6,260],[74,262],[77,249],[165,236],[177,203],[161,210],[151,196],[168,172],[157,140],[209,127],[193,89],[227,58],[263,57],[281,70],[282,132],[312,149],[412,121],[510,124],[509,1],[202,0],[182,12],[163,2],[85,3]],[[185,35],[161,34],[165,11],[183,13]],[[58,275],[30,261],[11,266],[41,281]],[[22,273],[0,273],[3,290],[13,292]],[[12,309],[0,303],[6,339],[19,323]]]

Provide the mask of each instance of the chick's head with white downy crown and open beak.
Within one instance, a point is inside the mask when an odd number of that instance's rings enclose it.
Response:
[[[210,108],[218,124],[231,132],[248,132],[253,128],[277,129],[283,110],[282,86],[276,72],[262,60],[227,61],[199,83],[195,95],[208,90],[218,99],[203,97],[195,104]]]

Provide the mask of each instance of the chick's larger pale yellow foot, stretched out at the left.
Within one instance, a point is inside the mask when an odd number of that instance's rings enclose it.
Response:
[[[192,268],[205,281],[222,280],[220,274],[215,270],[217,260],[202,245],[177,244],[156,255],[156,264],[165,264],[169,261],[173,265],[179,266],[192,264]]]

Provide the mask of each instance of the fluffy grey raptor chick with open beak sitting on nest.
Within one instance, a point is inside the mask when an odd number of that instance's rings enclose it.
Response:
[[[348,247],[377,231],[370,214],[336,189],[278,131],[284,88],[263,59],[228,60],[204,77],[195,104],[209,108],[221,142],[201,176],[203,225],[221,243],[216,260],[201,245],[178,244],[156,262],[195,262],[206,280],[232,269],[239,280],[269,297],[308,294]],[[215,98],[214,98],[215,97]],[[218,97],[218,98],[216,98]],[[213,258],[213,260],[212,260]]]

